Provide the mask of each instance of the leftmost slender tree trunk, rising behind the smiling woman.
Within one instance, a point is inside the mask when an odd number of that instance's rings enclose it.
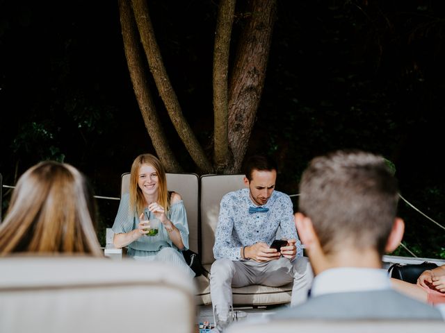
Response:
[[[147,128],[156,154],[164,165],[165,170],[168,172],[181,172],[181,166],[168,145],[147,85],[147,77],[143,70],[144,65],[140,59],[139,41],[136,35],[137,27],[128,0],[119,0],[119,12],[125,57],[127,58],[131,83],[133,83],[134,94],[144,119],[145,128]]]

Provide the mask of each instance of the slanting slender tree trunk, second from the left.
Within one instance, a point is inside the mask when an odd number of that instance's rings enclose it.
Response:
[[[161,51],[154,37],[147,1],[132,0],[131,3],[150,71],[152,72],[154,82],[156,83],[156,87],[159,90],[159,94],[165,104],[173,126],[175,126],[179,137],[182,142],[184,142],[188,153],[191,155],[197,167],[204,172],[211,172],[213,168],[182,113],[181,106],[170,83],[170,78],[168,77],[167,71],[165,71]]]

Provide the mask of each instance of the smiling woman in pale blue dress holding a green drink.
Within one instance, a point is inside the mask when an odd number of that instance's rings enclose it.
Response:
[[[154,155],[133,161],[129,194],[120,200],[112,230],[114,246],[128,246],[129,257],[168,262],[195,276],[181,253],[188,248],[184,203],[178,193],[167,191],[165,169]]]

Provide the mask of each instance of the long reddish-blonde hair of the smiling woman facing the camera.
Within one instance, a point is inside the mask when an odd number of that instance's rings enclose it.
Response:
[[[165,169],[161,161],[152,154],[142,154],[136,157],[131,165],[129,205],[130,212],[136,210],[136,216],[140,216],[146,207],[146,202],[142,190],[138,186],[139,170],[143,164],[151,165],[158,174],[158,198],[156,200],[165,212],[168,211],[170,203],[168,200],[167,178],[165,178]]]

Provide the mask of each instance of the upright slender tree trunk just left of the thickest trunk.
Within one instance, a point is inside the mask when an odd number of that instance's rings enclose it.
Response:
[[[227,169],[230,160],[227,76],[235,3],[236,0],[220,1],[216,23],[215,49],[213,50],[213,116],[215,127],[213,150],[218,172]]]

